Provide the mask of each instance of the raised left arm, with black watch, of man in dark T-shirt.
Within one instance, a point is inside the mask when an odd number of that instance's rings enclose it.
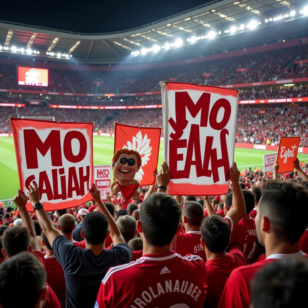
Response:
[[[32,203],[32,205],[40,202],[38,185],[34,181],[33,181],[33,184],[34,184],[34,187],[30,185],[29,191],[28,191],[29,200]],[[50,217],[48,216],[48,214],[46,213],[44,208],[37,209],[35,211],[35,214],[36,214],[36,217],[38,218],[42,231],[46,235],[48,242],[52,247],[52,244],[55,238],[59,235],[62,235],[62,233],[58,229],[54,228],[52,221]]]

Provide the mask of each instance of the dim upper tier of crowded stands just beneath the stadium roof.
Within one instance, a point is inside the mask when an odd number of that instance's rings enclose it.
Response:
[[[305,59],[308,59],[307,44],[144,70],[78,71],[51,68],[48,87],[18,85],[16,66],[1,64],[0,89],[92,94],[138,93],[159,91],[161,80],[219,86],[307,78],[307,63],[298,63]],[[36,65],[39,67],[39,63]]]

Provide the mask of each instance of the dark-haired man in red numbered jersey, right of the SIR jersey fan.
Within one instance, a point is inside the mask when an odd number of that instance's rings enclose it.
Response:
[[[254,219],[249,214],[255,205],[255,196],[248,189],[243,189],[242,193],[245,200],[246,215],[233,229],[230,244],[241,249],[247,264],[251,264],[255,261],[257,235]]]

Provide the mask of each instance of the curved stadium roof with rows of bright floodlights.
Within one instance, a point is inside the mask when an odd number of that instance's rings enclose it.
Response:
[[[298,18],[302,17],[299,11],[304,6],[305,2],[299,0],[216,0],[138,28],[110,33],[76,33],[0,21],[0,51],[26,54],[29,49],[30,55],[34,55],[35,50],[39,51],[35,56],[62,59],[70,59],[72,55],[71,59],[84,63],[117,63],[127,58],[131,58],[132,62],[141,62],[145,59],[142,59],[141,51],[154,51],[153,46],[162,51],[166,43],[169,48],[172,44],[175,47],[183,42],[191,44],[188,42],[190,38],[193,38],[193,43],[196,40],[209,41],[209,33],[212,31],[215,40],[204,47],[208,52],[214,52],[236,48],[239,44],[244,46],[308,32],[306,20]],[[292,10],[296,12],[295,16],[289,16]],[[280,22],[268,21],[280,14],[288,14],[288,18],[281,16],[278,19]],[[254,35],[250,31],[249,34],[246,32],[249,30],[247,24],[252,20],[259,23]],[[240,29],[241,25],[245,29]],[[231,33],[232,27],[235,32],[242,34]],[[236,37],[231,34],[236,34]],[[192,51],[196,52],[195,47],[180,49],[184,57],[191,55]],[[133,57],[134,51],[140,56]],[[174,53],[169,54],[174,57]]]

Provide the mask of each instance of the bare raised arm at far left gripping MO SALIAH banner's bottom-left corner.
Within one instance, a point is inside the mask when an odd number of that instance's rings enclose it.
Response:
[[[20,189],[17,191],[17,195],[14,197],[14,203],[19,209],[20,217],[22,220],[22,226],[29,229],[30,245],[32,245],[32,251],[41,251],[39,248],[39,242],[36,238],[34,223],[26,209],[28,198],[24,192]]]

